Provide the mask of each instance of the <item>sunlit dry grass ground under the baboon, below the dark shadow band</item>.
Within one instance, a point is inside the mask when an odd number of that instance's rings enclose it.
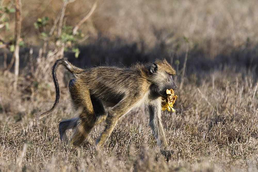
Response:
[[[53,88],[37,91],[36,101],[31,101],[20,92],[5,91],[9,84],[8,80],[1,82],[1,105],[5,111],[15,106],[16,113],[2,112],[0,117],[3,171],[258,170],[257,83],[244,71],[214,71],[176,91],[176,111],[163,113],[166,151],[158,149],[144,108],[123,117],[103,149],[91,145],[101,125],[81,147],[62,147],[58,123],[75,116],[67,106],[67,88],[62,88],[54,113],[37,121],[34,113],[53,103]],[[50,100],[42,102],[46,92]]]

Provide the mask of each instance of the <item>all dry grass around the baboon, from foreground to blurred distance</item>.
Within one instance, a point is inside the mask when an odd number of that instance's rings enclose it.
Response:
[[[54,18],[61,1],[23,3],[24,40],[40,47],[33,22],[46,15]],[[79,7],[90,10],[92,4],[69,4],[67,24],[87,14]],[[17,91],[12,73],[0,73],[0,171],[257,171],[257,6],[256,0],[99,1],[84,24],[84,33],[91,36],[78,59],[69,57],[81,67],[157,57],[180,62],[174,63],[176,84],[184,80],[176,91],[176,111],[163,113],[169,145],[165,151],[157,147],[143,107],[118,122],[102,149],[92,146],[102,125],[79,148],[60,145],[59,122],[76,116],[66,86],[70,76],[60,72],[58,108],[37,121],[34,115],[52,106],[55,90],[51,71],[44,73],[49,75],[45,80],[34,75],[37,69],[27,63],[25,48]],[[9,34],[1,30],[6,39]],[[190,43],[181,78],[188,46],[183,36]]]

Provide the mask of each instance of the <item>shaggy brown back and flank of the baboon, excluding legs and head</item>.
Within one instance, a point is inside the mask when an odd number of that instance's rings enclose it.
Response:
[[[112,101],[122,99],[128,93],[139,93],[142,89],[139,83],[146,82],[142,75],[137,67],[99,66],[76,74],[75,83],[80,85],[81,89],[89,89],[91,94],[100,99]]]

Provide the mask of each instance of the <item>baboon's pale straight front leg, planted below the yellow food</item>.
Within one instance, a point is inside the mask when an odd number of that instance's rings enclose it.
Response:
[[[153,134],[157,139],[158,145],[165,148],[167,147],[167,141],[162,124],[160,101],[157,101],[156,104],[149,105],[149,112],[150,126],[152,128]]]

